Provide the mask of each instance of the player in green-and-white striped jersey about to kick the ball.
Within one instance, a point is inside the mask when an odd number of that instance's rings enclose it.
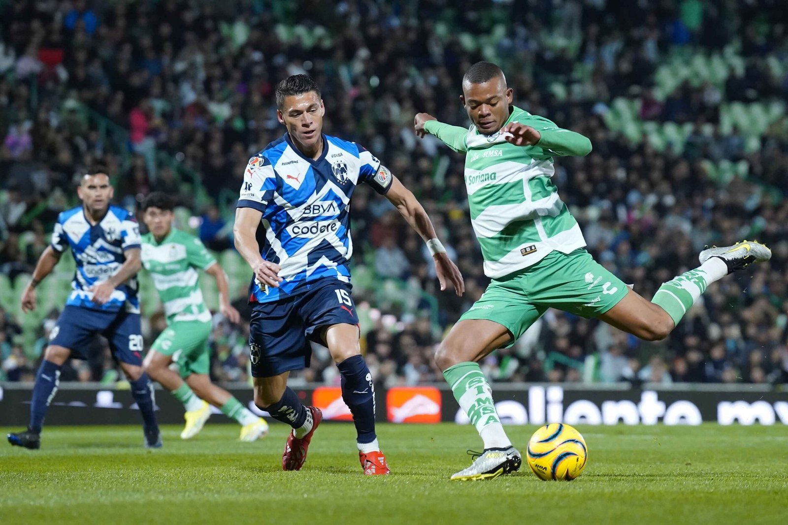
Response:
[[[478,361],[511,345],[548,308],[596,317],[647,341],[667,337],[709,284],[750,263],[768,261],[758,242],[701,252],[701,266],[663,283],[647,301],[585,251],[580,227],[551,177],[553,157],[584,156],[591,142],[513,105],[500,68],[478,62],[463,77],[460,101],[470,128],[418,113],[418,135],[435,135],[466,153],[470,220],[492,279],[485,294],[444,339],[435,360],[485,451],[452,479],[493,479],[516,471],[511,446]]]

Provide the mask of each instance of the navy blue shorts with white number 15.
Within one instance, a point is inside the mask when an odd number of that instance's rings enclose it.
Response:
[[[310,341],[324,344],[320,328],[359,324],[350,291],[350,283],[328,278],[303,293],[256,304],[249,326],[251,375],[271,377],[308,368]]]

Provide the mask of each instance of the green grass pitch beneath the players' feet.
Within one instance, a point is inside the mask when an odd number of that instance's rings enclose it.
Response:
[[[533,430],[507,429],[523,452]],[[578,430],[589,462],[572,482],[526,464],[449,482],[480,445],[472,427],[380,425],[393,474],[374,478],[349,424],[320,427],[299,472],[281,471],[281,424],[256,443],[231,425],[188,442],[165,427],[152,452],[139,427],[49,427],[40,450],[0,446],[0,523],[786,523],[786,427]]]

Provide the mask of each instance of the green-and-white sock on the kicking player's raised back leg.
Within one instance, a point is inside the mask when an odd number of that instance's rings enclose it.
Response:
[[[673,319],[675,324],[682,320],[686,312],[692,308],[697,298],[706,291],[709,284],[722,279],[727,273],[724,261],[712,257],[689,272],[684,272],[674,279],[663,283],[656,290],[652,303],[659,305]]]

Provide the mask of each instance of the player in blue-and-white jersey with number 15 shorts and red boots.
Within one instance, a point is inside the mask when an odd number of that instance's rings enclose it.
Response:
[[[342,397],[353,414],[359,460],[366,475],[388,474],[375,434],[374,386],[359,349],[359,318],[351,296],[353,253],[350,201],[359,183],[385,195],[427,242],[440,289],[457,294],[463,278],[449,260],[422,205],[355,142],[322,134],[325,107],[307,75],[277,86],[277,117],[284,136],[251,157],[236,210],[236,247],[255,277],[250,347],[255,404],[288,423],[282,468],[299,470],[322,414],[305,407],[287,386],[290,371],[310,363],[310,341],[329,351],[342,378]],[[258,246],[262,224],[266,240]]]

